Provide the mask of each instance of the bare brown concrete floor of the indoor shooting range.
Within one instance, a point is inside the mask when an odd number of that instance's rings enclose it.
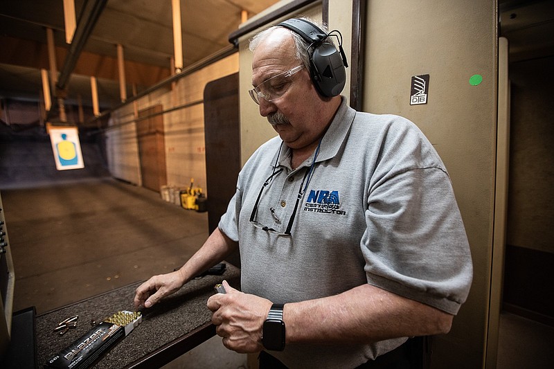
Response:
[[[1,195],[15,264],[15,312],[35,306],[42,314],[172,271],[208,236],[207,213],[109,178],[8,188]],[[550,368],[553,333],[548,325],[502,314],[497,368]],[[215,336],[163,369],[255,367],[249,359]]]

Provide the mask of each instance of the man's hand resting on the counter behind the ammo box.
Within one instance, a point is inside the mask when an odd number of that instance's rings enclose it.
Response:
[[[177,292],[184,283],[185,280],[180,270],[153,276],[136,289],[134,306],[151,307],[162,298]]]

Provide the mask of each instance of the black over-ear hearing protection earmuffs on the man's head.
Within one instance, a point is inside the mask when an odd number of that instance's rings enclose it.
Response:
[[[338,30],[325,33],[321,28],[305,19],[287,19],[278,26],[292,30],[300,35],[308,46],[310,55],[310,76],[316,90],[321,96],[332,97],[341,93],[346,83],[346,71],[348,62],[342,48],[342,35]],[[340,35],[332,35],[338,33]],[[325,42],[330,36],[336,36],[339,40],[339,50],[330,42]],[[313,51],[310,52],[310,48]]]

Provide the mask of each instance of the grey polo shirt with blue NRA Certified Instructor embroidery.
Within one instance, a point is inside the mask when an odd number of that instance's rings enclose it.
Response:
[[[278,137],[262,145],[220,220],[240,246],[242,291],[292,303],[370,283],[458,312],[472,281],[470,249],[445,166],[418,127],[357,112],[343,98],[314,165],[312,155],[293,170],[290,155]],[[260,228],[284,233],[299,191],[290,236]],[[271,354],[292,368],[348,368],[404,341],[289,345]]]

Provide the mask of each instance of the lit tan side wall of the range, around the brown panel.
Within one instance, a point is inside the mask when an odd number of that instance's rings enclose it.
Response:
[[[166,144],[166,172],[168,186],[186,188],[194,178],[195,186],[206,191],[206,147],[204,143],[204,87],[238,71],[238,54],[235,53],[204,69],[191,73],[177,81],[175,91],[160,89],[136,102],[141,111],[154,105],[163,110],[192,105],[163,114]],[[134,116],[134,104],[130,103],[111,114],[111,125],[129,122]],[[106,132],[109,170],[114,177],[141,185],[139,147],[136,141],[135,123],[120,125]],[[239,143],[237,143],[239,145]]]

